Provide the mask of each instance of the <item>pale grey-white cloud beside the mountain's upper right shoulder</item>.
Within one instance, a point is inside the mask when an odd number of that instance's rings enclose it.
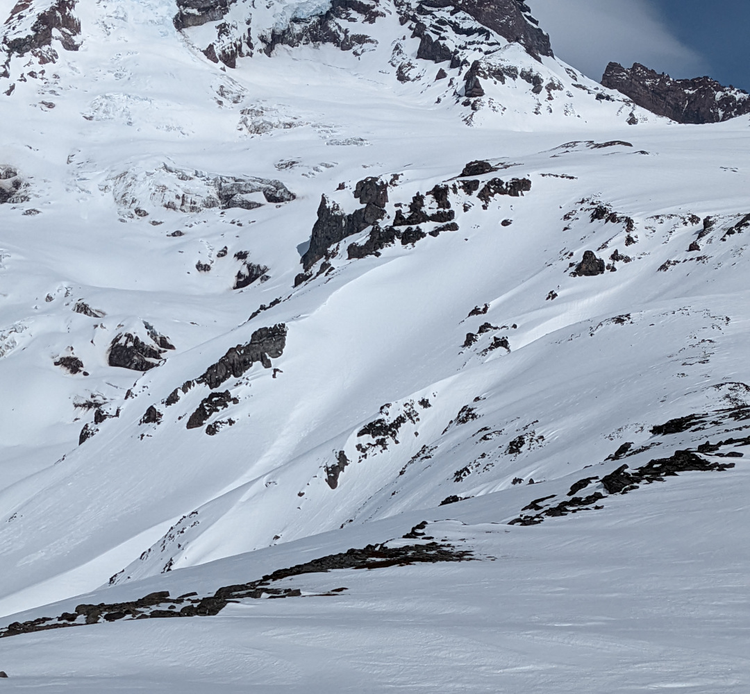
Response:
[[[526,0],[561,60],[592,79],[609,61],[675,77],[705,74],[702,55],[670,33],[647,0]]]

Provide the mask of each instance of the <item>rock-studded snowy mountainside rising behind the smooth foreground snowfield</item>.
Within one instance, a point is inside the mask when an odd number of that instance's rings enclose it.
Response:
[[[748,118],[634,106],[515,0],[7,15],[0,612],[747,450]]]

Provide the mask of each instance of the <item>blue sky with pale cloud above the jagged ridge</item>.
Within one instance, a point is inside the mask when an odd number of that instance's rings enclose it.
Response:
[[[559,58],[600,79],[610,60],[750,91],[750,0],[526,0]]]

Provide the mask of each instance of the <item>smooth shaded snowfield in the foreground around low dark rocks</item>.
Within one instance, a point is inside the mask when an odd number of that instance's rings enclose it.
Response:
[[[156,598],[161,609],[181,610],[194,598],[178,596],[350,546],[426,545],[401,538],[425,519],[425,537],[472,552],[458,563],[290,576],[215,616],[101,620],[0,639],[3,686],[739,694],[750,681],[747,484],[747,468],[690,473],[532,528],[502,524],[503,499],[519,504],[532,491],[516,488],[109,588],[17,616],[73,615],[80,603],[156,591],[171,593]],[[269,599],[282,591],[289,597]]]

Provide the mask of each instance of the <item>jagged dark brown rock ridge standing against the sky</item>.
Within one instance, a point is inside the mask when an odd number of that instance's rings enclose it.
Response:
[[[678,123],[718,123],[750,113],[750,94],[724,87],[710,77],[672,79],[640,63],[610,63],[601,84],[625,94],[638,106]]]

